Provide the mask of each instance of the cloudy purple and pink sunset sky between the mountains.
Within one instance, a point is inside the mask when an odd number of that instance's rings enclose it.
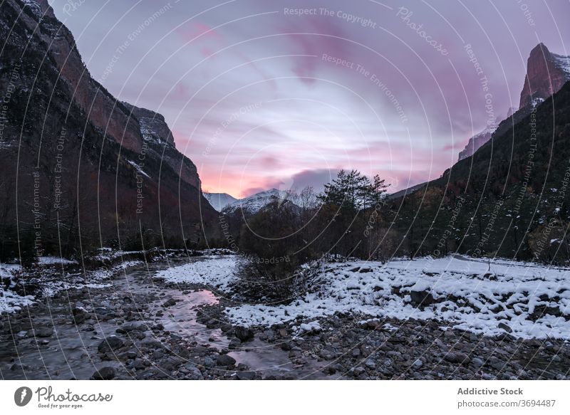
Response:
[[[439,177],[518,107],[537,43],[570,55],[568,0],[50,4],[93,78],[165,115],[204,191],[233,196]]]

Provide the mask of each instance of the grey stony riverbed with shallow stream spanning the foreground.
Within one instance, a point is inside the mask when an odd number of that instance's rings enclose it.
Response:
[[[232,300],[204,285],[155,278],[168,266],[172,261],[140,264],[106,286],[63,290],[1,315],[1,377],[570,379],[566,340],[522,340],[507,331],[490,337],[436,320],[341,312],[318,324],[298,317],[269,327],[232,325],[224,313]]]

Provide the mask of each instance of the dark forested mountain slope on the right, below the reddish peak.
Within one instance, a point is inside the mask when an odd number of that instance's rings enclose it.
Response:
[[[513,123],[514,121],[514,123]],[[400,248],[519,259],[570,258],[570,83],[519,110],[493,140],[425,187],[393,201]]]

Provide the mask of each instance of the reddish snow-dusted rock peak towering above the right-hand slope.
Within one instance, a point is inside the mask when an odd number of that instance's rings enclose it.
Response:
[[[520,107],[545,100],[570,80],[570,56],[551,53],[543,43],[532,49],[527,61],[527,76],[521,92]]]

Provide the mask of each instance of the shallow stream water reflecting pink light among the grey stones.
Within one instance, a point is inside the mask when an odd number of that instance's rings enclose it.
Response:
[[[207,260],[193,258],[191,261]],[[34,310],[33,307],[29,315],[22,312],[19,317],[1,316],[5,329],[0,335],[1,378],[89,379],[95,369],[102,366],[120,369],[123,363],[116,360],[102,362],[98,354],[98,345],[105,337],[116,334],[119,322],[115,319],[98,319],[92,325],[93,329],[73,324],[68,314],[70,306],[81,303],[82,300],[91,303],[95,309],[103,310],[112,309],[118,302],[136,305],[136,298],[141,295],[143,298],[152,298],[154,300],[146,303],[145,310],[147,314],[156,316],[152,324],[160,323],[171,335],[193,340],[198,345],[216,347],[218,350],[227,348],[229,339],[222,330],[208,328],[197,321],[200,306],[215,305],[219,299],[209,290],[182,291],[156,283],[152,275],[167,266],[167,263],[152,263],[128,268],[111,281],[110,287],[96,293],[87,290],[83,290],[83,293],[70,291],[57,300],[44,300],[39,305],[41,310]],[[163,308],[164,301],[170,298],[175,299],[176,304]],[[26,326],[26,320],[36,330],[53,327],[53,335],[34,337],[26,334],[26,330],[18,331],[21,325],[29,327],[29,324]],[[275,344],[264,342],[257,336],[254,340],[243,343],[241,349],[229,352],[229,355],[237,360],[237,364],[247,364],[249,370],[262,372],[264,377],[288,373],[296,378],[324,377],[316,361],[302,368],[294,367],[289,360],[289,352],[281,350]]]

